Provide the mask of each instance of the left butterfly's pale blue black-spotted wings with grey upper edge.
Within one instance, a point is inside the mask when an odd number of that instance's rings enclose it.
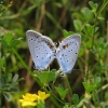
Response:
[[[33,30],[28,30],[26,36],[35,68],[46,69],[55,57],[55,44],[50,38]]]

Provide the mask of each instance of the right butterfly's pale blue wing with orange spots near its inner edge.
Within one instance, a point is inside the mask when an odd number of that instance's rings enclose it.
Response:
[[[81,38],[79,35],[72,35],[62,41],[57,51],[56,58],[63,72],[71,72],[76,63]]]

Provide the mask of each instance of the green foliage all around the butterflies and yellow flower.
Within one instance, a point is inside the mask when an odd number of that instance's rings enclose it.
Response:
[[[108,0],[1,0],[0,108],[2,97],[15,105],[12,107],[6,102],[3,107],[21,108],[16,103],[19,99],[17,92],[23,94],[27,90],[40,89],[51,95],[50,103],[46,103],[50,108],[108,108],[107,5]],[[48,35],[53,40],[81,35],[81,49],[75,66],[77,71],[68,76],[69,82],[54,69],[55,65],[49,71],[32,72],[29,69],[31,62],[25,39],[28,29]],[[25,63],[28,60],[29,66]],[[25,68],[39,86],[27,87],[31,80],[21,68]],[[21,76],[28,83],[19,91]],[[37,108],[45,108],[45,103],[40,100]]]

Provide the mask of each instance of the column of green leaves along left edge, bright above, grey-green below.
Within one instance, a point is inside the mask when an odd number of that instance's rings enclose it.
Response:
[[[6,69],[6,59],[11,54],[11,49],[19,42],[19,39],[14,40],[13,37],[12,32],[0,35],[0,49],[2,48],[0,52],[0,95],[3,95],[8,102],[12,100],[12,93],[19,92],[17,84],[22,80],[18,79],[17,73],[13,76]]]

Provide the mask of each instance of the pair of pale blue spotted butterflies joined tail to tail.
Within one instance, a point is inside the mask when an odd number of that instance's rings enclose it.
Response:
[[[26,37],[36,69],[46,69],[50,63],[56,58],[63,72],[71,72],[81,44],[80,35],[65,38],[58,48],[55,46],[52,39],[35,30],[28,30]]]

